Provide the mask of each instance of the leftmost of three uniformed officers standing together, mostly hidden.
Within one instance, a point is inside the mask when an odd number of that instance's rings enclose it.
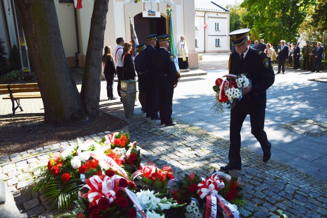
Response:
[[[147,82],[145,78],[144,66],[142,65],[142,58],[144,56],[143,50],[145,48],[146,48],[145,43],[141,43],[137,45],[136,52],[138,54],[135,56],[134,59],[135,71],[137,73],[137,81],[138,81],[138,100],[142,106],[141,109],[142,113],[146,111],[145,102],[146,102],[146,95],[147,95],[147,91],[146,91]]]

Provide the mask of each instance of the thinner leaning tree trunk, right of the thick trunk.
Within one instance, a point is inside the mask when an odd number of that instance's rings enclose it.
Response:
[[[85,59],[81,97],[89,116],[99,115],[100,75],[109,0],[95,0]]]

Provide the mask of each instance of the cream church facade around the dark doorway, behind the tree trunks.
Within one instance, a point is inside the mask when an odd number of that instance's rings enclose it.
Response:
[[[160,8],[160,17],[143,17],[144,4],[134,0],[109,0],[104,46],[110,46],[112,51],[116,46],[117,37],[130,41],[130,19],[135,26],[138,42],[145,42],[150,34],[168,33],[167,4],[173,10],[172,21],[175,42],[184,35],[188,40],[189,65],[191,69],[198,68],[198,55],[195,50],[194,1],[191,0],[155,0]],[[74,0],[54,0],[65,56],[69,67],[83,67],[87,51],[90,30],[90,20],[94,0],[83,0],[83,8],[76,9]],[[13,0],[0,0],[0,38],[2,38],[9,53],[16,45],[19,49],[22,67],[30,67],[28,47],[25,43],[24,31],[19,24]]]

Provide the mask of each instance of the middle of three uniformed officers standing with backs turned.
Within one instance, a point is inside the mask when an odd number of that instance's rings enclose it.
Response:
[[[146,37],[147,47],[143,51],[142,64],[144,66],[146,80],[147,80],[147,96],[146,96],[146,111],[147,117],[151,120],[159,120],[158,115],[158,94],[156,88],[156,72],[153,70],[152,57],[157,51],[155,46],[157,45],[157,34],[152,34]]]

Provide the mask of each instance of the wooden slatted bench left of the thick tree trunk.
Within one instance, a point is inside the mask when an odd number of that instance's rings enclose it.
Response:
[[[20,111],[22,111],[19,99],[41,98],[39,86],[37,83],[0,84],[0,94],[3,93],[9,93],[8,96],[3,97],[2,99],[11,100],[13,115],[15,115],[15,111],[18,107],[20,108]],[[17,106],[15,106],[15,101]]]

